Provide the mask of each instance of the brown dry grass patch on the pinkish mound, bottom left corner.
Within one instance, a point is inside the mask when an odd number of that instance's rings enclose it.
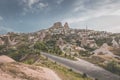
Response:
[[[21,71],[18,66],[20,66],[19,63],[5,63],[0,65],[1,71],[5,72],[5,74],[11,75],[13,78],[20,78],[20,79],[27,79],[27,80],[38,80],[35,77],[26,75],[23,71]]]

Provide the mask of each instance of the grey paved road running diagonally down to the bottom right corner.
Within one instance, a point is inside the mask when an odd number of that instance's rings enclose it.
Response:
[[[120,80],[120,76],[115,75],[109,71],[106,71],[105,69],[95,66],[94,64],[89,63],[82,59],[79,59],[79,61],[72,61],[44,52],[42,52],[41,54],[47,56],[49,59],[53,61],[56,61],[57,63],[60,63],[68,68],[73,69],[76,72],[86,73],[90,77],[97,78],[98,80]]]

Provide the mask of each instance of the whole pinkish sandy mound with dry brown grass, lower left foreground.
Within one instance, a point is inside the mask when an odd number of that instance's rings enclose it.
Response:
[[[48,68],[18,63],[7,56],[0,56],[0,62],[0,80],[61,80]]]

